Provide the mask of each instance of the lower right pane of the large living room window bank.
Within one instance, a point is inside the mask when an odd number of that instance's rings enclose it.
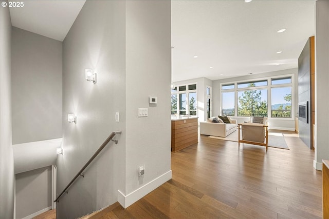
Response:
[[[291,118],[291,87],[272,88],[271,117]]]

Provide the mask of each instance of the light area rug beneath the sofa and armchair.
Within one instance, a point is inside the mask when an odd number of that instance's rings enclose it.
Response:
[[[231,141],[231,142],[238,142],[239,138],[237,134],[239,132],[236,130],[235,132],[229,134],[226,137],[217,137],[217,136],[209,136],[210,138]],[[240,137],[242,138],[242,133],[240,132]],[[245,143],[244,143],[245,144]],[[284,136],[282,133],[268,133],[268,147],[272,148],[282,148],[289,150],[286,141],[284,140]]]

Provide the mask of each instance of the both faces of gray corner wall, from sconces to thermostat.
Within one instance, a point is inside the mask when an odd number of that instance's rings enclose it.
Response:
[[[118,190],[129,196],[170,171],[170,51],[169,1],[85,3],[63,42],[58,193],[112,131],[122,134],[64,194],[58,218],[111,205]],[[84,79],[86,68],[97,69],[97,84]],[[157,96],[158,104],[149,105],[149,96]],[[138,108],[149,108],[149,116],[138,117]],[[77,115],[77,124],[66,121],[68,113]],[[143,177],[137,175],[140,165]]]

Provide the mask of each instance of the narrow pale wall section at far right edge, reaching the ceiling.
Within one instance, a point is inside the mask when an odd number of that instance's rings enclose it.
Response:
[[[329,160],[329,1],[316,1],[316,136],[314,167],[322,169],[322,159]]]

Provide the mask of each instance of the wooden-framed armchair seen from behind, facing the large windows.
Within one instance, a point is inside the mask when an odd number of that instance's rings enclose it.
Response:
[[[268,130],[267,126],[257,123],[239,124],[239,147],[240,143],[265,146],[267,151],[268,146]],[[242,139],[240,137],[242,131]]]

